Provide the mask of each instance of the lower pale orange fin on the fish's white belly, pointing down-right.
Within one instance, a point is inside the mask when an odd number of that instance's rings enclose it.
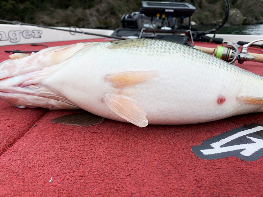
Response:
[[[103,98],[110,110],[125,120],[139,127],[146,127],[148,120],[146,112],[135,104],[135,101],[118,94],[108,94]]]

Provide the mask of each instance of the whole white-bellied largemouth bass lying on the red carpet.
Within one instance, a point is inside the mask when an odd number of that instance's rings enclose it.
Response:
[[[145,127],[263,111],[262,76],[178,43],[78,43],[10,58],[0,64],[2,100],[20,108],[94,114],[77,122],[99,123],[104,117]]]

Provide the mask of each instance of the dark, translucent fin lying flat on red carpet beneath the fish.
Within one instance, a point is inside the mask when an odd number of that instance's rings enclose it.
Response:
[[[91,125],[97,125],[99,123],[102,123],[103,121],[104,121],[103,117],[94,115],[89,112],[69,114],[51,120],[52,123],[75,125],[79,127],[88,127]]]

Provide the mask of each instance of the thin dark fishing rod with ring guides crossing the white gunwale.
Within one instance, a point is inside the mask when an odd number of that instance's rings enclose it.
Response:
[[[71,26],[69,29],[60,29],[60,28],[49,27],[49,26],[45,26],[45,25],[35,25],[35,24],[30,24],[30,23],[23,23],[23,22],[19,22],[17,20],[11,21],[11,20],[2,20],[2,19],[0,19],[0,22],[11,23],[11,24],[14,24],[14,25],[29,25],[29,26],[46,28],[46,29],[54,29],[54,30],[59,30],[59,31],[65,31],[65,32],[69,32],[71,35],[75,35],[76,33],[80,33],[80,34],[100,36],[100,37],[104,37],[104,38],[114,38],[114,39],[119,39],[119,40],[126,40],[127,39],[127,38],[122,38],[122,37],[119,37],[119,36],[103,35],[103,34],[95,34],[95,33],[90,33],[90,32],[84,32],[82,29],[80,29],[79,27],[75,27],[75,26]],[[72,29],[74,29],[74,30],[72,30]],[[80,31],[78,31],[77,29],[80,29]]]

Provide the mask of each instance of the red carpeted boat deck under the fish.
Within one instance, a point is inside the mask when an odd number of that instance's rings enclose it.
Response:
[[[42,48],[3,46],[0,61],[8,59],[4,50]],[[263,75],[260,63],[237,65]],[[50,122],[69,113],[0,101],[0,196],[263,196],[263,158],[204,160],[191,152],[230,129],[262,124],[263,113],[145,128],[112,120],[87,128]]]

